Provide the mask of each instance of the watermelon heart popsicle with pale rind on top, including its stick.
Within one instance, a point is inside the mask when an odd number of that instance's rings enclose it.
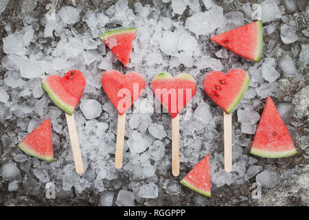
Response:
[[[161,72],[152,80],[152,89],[172,116],[172,174],[178,176],[179,112],[194,96],[196,82],[189,74],[179,74],[174,78],[167,72]]]

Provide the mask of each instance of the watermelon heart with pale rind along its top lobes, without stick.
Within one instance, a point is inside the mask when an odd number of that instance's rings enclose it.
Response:
[[[173,78],[167,72],[161,72],[152,80],[152,89],[163,107],[175,118],[194,96],[196,82],[189,74]]]

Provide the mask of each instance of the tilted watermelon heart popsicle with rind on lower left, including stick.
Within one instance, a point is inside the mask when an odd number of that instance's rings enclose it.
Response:
[[[57,107],[65,111],[76,173],[82,174],[84,173],[84,167],[82,166],[82,155],[80,154],[80,144],[78,142],[73,111],[76,109],[84,92],[86,85],[84,75],[79,70],[73,69],[62,77],[57,75],[47,76],[41,85],[49,99]]]

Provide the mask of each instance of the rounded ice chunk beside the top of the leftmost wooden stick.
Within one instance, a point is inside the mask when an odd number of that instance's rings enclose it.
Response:
[[[102,113],[101,104],[94,99],[83,99],[80,102],[80,109],[87,119],[97,118]]]

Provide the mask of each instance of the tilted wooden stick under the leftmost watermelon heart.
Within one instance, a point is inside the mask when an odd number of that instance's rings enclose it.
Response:
[[[67,128],[69,129],[76,173],[82,174],[84,173],[84,166],[82,166],[82,155],[80,154],[80,143],[78,142],[78,135],[76,131],[74,115],[73,113],[72,115],[65,113],[65,117],[67,118]]]

